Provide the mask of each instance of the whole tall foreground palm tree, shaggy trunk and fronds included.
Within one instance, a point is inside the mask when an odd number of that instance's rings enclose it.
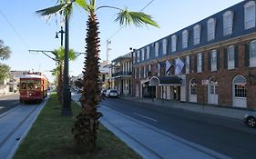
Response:
[[[49,10],[41,10],[42,15],[50,15],[52,11],[63,11],[65,8],[70,8],[70,4],[77,3],[83,7],[88,13],[87,17],[87,38],[86,38],[86,53],[84,62],[84,79],[83,79],[83,93],[80,98],[82,105],[81,112],[77,115],[72,133],[74,134],[75,142],[82,150],[94,150],[97,141],[98,119],[102,116],[97,112],[97,104],[101,101],[100,85],[98,83],[99,74],[99,37],[98,37],[98,22],[97,10],[100,8],[117,9],[118,14],[116,21],[120,25],[136,26],[153,25],[159,27],[150,15],[142,12],[129,12],[127,8],[121,9],[114,6],[96,6],[96,0],[75,0],[65,1],[62,5],[56,5]],[[69,5],[69,7],[68,7]]]

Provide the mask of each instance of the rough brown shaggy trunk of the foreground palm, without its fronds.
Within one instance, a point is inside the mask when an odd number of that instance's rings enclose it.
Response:
[[[99,38],[96,15],[90,15],[87,21],[87,56],[84,66],[83,93],[80,98],[82,111],[77,115],[72,133],[76,144],[82,150],[96,148],[98,119],[102,116],[97,112],[97,104],[101,101],[98,83]]]

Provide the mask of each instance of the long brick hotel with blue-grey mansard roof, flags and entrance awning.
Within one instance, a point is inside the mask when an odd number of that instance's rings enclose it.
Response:
[[[242,1],[137,49],[133,94],[256,108],[255,16]]]

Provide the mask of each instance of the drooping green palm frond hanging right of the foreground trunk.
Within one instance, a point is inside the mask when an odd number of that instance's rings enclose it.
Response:
[[[159,25],[152,19],[151,15],[146,15],[143,12],[128,12],[127,9],[121,10],[118,13],[118,17],[115,21],[120,25],[136,25],[141,27],[143,25],[153,25],[159,27]]]

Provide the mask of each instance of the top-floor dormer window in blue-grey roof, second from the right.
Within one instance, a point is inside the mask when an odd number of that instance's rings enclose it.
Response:
[[[227,11],[223,14],[223,35],[231,35],[233,27],[233,13]]]

